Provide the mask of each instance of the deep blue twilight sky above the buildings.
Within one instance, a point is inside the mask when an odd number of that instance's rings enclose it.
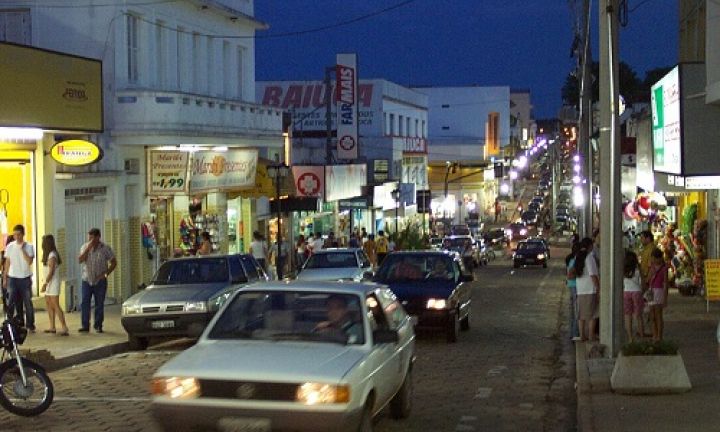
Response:
[[[577,0],[581,3],[581,0]],[[628,0],[622,61],[642,79],[677,62],[678,0]],[[415,0],[331,30],[268,37],[344,22],[403,0],[256,0],[257,80],[322,79],[337,52],[357,52],[360,78],[401,85],[509,85],[529,88],[535,118],[554,117],[570,58],[574,17],[569,0]],[[598,0],[593,12],[597,59]]]

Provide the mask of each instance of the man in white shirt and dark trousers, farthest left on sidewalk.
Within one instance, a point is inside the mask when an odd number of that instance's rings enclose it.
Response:
[[[35,260],[35,248],[25,241],[25,227],[15,225],[14,242],[5,248],[5,266],[3,282],[8,287],[8,313],[12,318],[15,305],[22,302],[25,308],[25,325],[35,333],[35,310],[32,305],[32,265]]]

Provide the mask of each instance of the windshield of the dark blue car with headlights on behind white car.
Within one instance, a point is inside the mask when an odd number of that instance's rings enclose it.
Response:
[[[376,274],[378,282],[452,280],[452,259],[444,254],[390,254]]]

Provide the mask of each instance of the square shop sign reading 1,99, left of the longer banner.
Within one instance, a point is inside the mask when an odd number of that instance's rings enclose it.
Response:
[[[190,153],[150,150],[148,156],[148,194],[168,195],[187,192]]]

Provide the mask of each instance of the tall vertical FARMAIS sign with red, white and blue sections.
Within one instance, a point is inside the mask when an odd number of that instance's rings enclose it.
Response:
[[[337,105],[338,159],[358,156],[357,55],[338,54],[335,102]]]

